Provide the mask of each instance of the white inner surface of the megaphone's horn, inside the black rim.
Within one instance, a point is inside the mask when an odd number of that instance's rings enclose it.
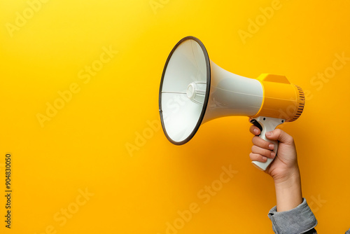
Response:
[[[207,64],[200,44],[187,40],[172,54],[162,83],[163,121],[167,135],[174,142],[189,137],[202,113],[204,95],[198,97],[199,94],[193,93],[193,100],[188,98],[191,83],[194,92],[195,84],[200,85],[200,90],[206,90]]]

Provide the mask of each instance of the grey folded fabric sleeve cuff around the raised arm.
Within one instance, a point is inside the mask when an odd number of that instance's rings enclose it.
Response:
[[[305,233],[317,225],[305,198],[302,198],[300,205],[286,212],[276,212],[276,206],[273,207],[269,211],[269,219],[272,221],[274,233]]]

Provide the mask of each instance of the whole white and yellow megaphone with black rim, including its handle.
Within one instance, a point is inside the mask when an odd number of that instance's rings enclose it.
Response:
[[[160,82],[159,111],[167,139],[176,145],[193,138],[200,125],[224,116],[248,116],[265,137],[277,125],[295,121],[304,109],[302,88],[285,76],[261,74],[246,78],[225,71],[209,60],[203,43],[194,36],[181,39],[165,62]],[[276,154],[277,155],[277,154]],[[252,162],[260,170],[272,163]]]

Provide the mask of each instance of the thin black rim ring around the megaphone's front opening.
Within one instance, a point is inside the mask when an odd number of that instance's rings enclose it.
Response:
[[[202,112],[200,113],[200,118],[197,121],[197,125],[195,126],[195,128],[193,129],[191,134],[186,139],[184,139],[181,142],[175,142],[172,138],[169,137],[169,135],[167,134],[167,130],[165,130],[165,123],[164,123],[163,114],[162,114],[162,86],[163,86],[163,80],[164,80],[164,76],[165,76],[165,71],[167,70],[167,65],[169,63],[170,58],[172,57],[172,55],[173,55],[174,51],[176,50],[176,48],[178,48],[178,46],[180,46],[181,43],[183,43],[184,41],[187,41],[187,40],[196,41],[200,45],[200,47],[202,48],[202,51],[203,51],[204,57],[205,57],[205,63],[207,64],[207,90],[205,91],[204,104],[203,104],[203,107],[202,107]],[[169,54],[169,56],[167,58],[167,62],[165,62],[165,66],[164,66],[163,73],[162,73],[162,80],[160,81],[159,112],[160,112],[160,121],[162,123],[162,129],[164,131],[164,134],[167,137],[167,139],[169,140],[169,142],[172,142],[172,144],[181,145],[181,144],[187,143],[188,141],[190,141],[190,139],[193,138],[193,136],[196,134],[197,130],[200,128],[200,125],[202,124],[202,121],[203,121],[203,118],[204,118],[205,111],[207,110],[207,104],[208,104],[208,100],[209,100],[210,75],[211,75],[210,72],[211,72],[211,70],[210,70],[210,60],[209,60],[209,55],[208,55],[207,49],[204,47],[204,44],[202,43],[202,41],[200,41],[200,39],[197,39],[197,37],[195,37],[195,36],[186,36],[186,37],[184,37],[178,43],[176,43],[176,45],[172,49],[172,52],[170,52],[170,54]]]

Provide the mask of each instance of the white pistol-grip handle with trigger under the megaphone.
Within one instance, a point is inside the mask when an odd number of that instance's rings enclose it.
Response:
[[[272,144],[274,144],[274,153],[276,153],[276,155],[277,155],[277,149],[279,148],[279,142],[267,139],[265,137],[265,133],[274,130],[278,125],[284,123],[284,121],[286,120],[283,118],[271,118],[271,117],[264,117],[264,116],[252,118],[251,120],[251,123],[253,123],[253,125],[260,128],[261,132],[259,137],[261,139],[264,139],[267,142],[271,142]],[[272,163],[272,161],[273,161],[273,158],[267,158],[267,161],[265,163],[261,163],[258,161],[252,161],[251,163],[253,163],[253,165],[257,167],[259,170],[265,171],[266,168],[270,165],[270,163]]]

